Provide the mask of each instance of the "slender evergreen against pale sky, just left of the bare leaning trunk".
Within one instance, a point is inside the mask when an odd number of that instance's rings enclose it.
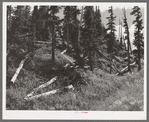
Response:
[[[114,16],[113,14],[113,8],[112,6],[109,8],[108,12],[110,13],[110,17],[107,17],[108,19],[108,28],[107,30],[109,31],[107,38],[107,52],[110,54],[110,74],[112,71],[112,57],[113,57],[113,45],[114,45],[114,41],[115,41],[115,18],[116,16]]]

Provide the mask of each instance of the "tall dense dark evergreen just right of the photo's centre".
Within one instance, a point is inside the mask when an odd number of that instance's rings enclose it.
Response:
[[[95,23],[94,23],[94,10],[93,6],[86,6],[84,8],[83,15],[83,48],[84,55],[89,59],[89,65],[91,70],[93,70],[93,53],[94,53],[94,32],[95,32]]]

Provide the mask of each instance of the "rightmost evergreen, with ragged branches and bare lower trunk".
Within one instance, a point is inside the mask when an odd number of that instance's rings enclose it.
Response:
[[[138,71],[141,69],[141,51],[143,50],[143,19],[141,9],[138,6],[134,6],[131,12],[131,15],[134,15],[136,18],[133,21],[133,24],[135,24],[135,32],[134,32],[134,45],[137,47],[137,63],[138,63]]]

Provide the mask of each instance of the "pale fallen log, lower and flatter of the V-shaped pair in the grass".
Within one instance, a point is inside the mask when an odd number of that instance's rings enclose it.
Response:
[[[69,85],[69,86],[64,87],[64,88],[65,89],[74,89],[74,87],[72,85]],[[35,96],[32,96],[32,97],[25,97],[24,99],[26,99],[26,100],[32,100],[32,99],[39,98],[41,96],[44,96],[45,97],[45,96],[48,96],[48,95],[51,95],[51,94],[55,94],[55,93],[57,93],[60,90],[61,89],[55,89],[55,90],[52,90],[52,91],[49,91],[49,92],[45,92],[45,93],[42,93],[42,94],[39,94],[39,95],[35,95]]]

